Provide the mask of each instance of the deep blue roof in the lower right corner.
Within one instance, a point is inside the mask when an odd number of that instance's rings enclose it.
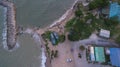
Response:
[[[110,60],[112,65],[120,67],[120,48],[110,48]]]

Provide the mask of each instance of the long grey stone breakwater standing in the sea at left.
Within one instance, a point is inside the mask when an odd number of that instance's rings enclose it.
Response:
[[[16,21],[15,21],[15,6],[13,3],[8,2],[7,0],[0,0],[0,5],[7,8],[6,13],[6,42],[8,50],[11,50],[16,45]]]

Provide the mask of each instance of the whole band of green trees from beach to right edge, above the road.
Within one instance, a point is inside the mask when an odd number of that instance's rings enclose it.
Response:
[[[92,32],[106,29],[111,31],[111,36],[115,35],[116,27],[119,25],[118,17],[104,18],[100,15],[97,19],[93,14],[87,13],[87,16],[82,18],[73,18],[66,24],[65,28],[69,32],[68,39],[70,41],[78,41],[88,38]],[[87,21],[91,19],[90,23]]]

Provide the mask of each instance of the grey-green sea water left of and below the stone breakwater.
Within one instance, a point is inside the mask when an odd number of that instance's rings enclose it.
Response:
[[[0,67],[42,67],[40,44],[29,34],[18,37],[19,48],[8,51],[4,48],[6,8],[0,6]]]

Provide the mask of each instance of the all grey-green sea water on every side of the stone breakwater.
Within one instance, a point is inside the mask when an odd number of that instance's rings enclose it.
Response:
[[[18,26],[45,27],[59,19],[74,0],[9,0],[16,6]],[[0,7],[0,67],[42,67],[43,49],[31,35],[18,37],[19,48],[9,52],[3,48],[4,8]]]

